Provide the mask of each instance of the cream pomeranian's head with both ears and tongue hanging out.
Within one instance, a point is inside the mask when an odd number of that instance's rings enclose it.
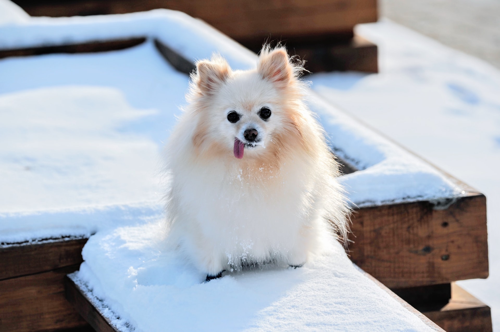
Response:
[[[213,143],[235,158],[252,158],[264,154],[273,139],[296,131],[287,111],[294,77],[284,50],[261,56],[249,71],[231,71],[222,59],[198,62],[195,79],[202,100],[195,144]]]

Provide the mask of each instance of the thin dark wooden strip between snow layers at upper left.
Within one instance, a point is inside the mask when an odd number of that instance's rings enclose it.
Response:
[[[0,58],[10,56],[42,55],[50,53],[89,53],[106,52],[137,46],[146,40],[144,37],[96,40],[79,44],[47,45],[41,47],[28,47],[17,49],[0,49]]]

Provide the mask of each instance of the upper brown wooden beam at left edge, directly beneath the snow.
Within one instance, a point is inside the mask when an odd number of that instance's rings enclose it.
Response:
[[[79,265],[86,242],[87,239],[60,238],[34,244],[2,244],[0,280]]]

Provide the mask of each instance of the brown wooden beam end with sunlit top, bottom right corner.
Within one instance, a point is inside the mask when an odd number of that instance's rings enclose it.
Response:
[[[490,308],[455,283],[451,283],[448,304],[422,313],[447,332],[493,331]]]

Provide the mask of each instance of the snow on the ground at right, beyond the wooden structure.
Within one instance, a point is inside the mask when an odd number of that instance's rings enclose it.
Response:
[[[458,284],[500,330],[500,71],[388,20],[357,32],[379,47],[380,73],[318,73],[312,88],[487,197],[489,278]]]

